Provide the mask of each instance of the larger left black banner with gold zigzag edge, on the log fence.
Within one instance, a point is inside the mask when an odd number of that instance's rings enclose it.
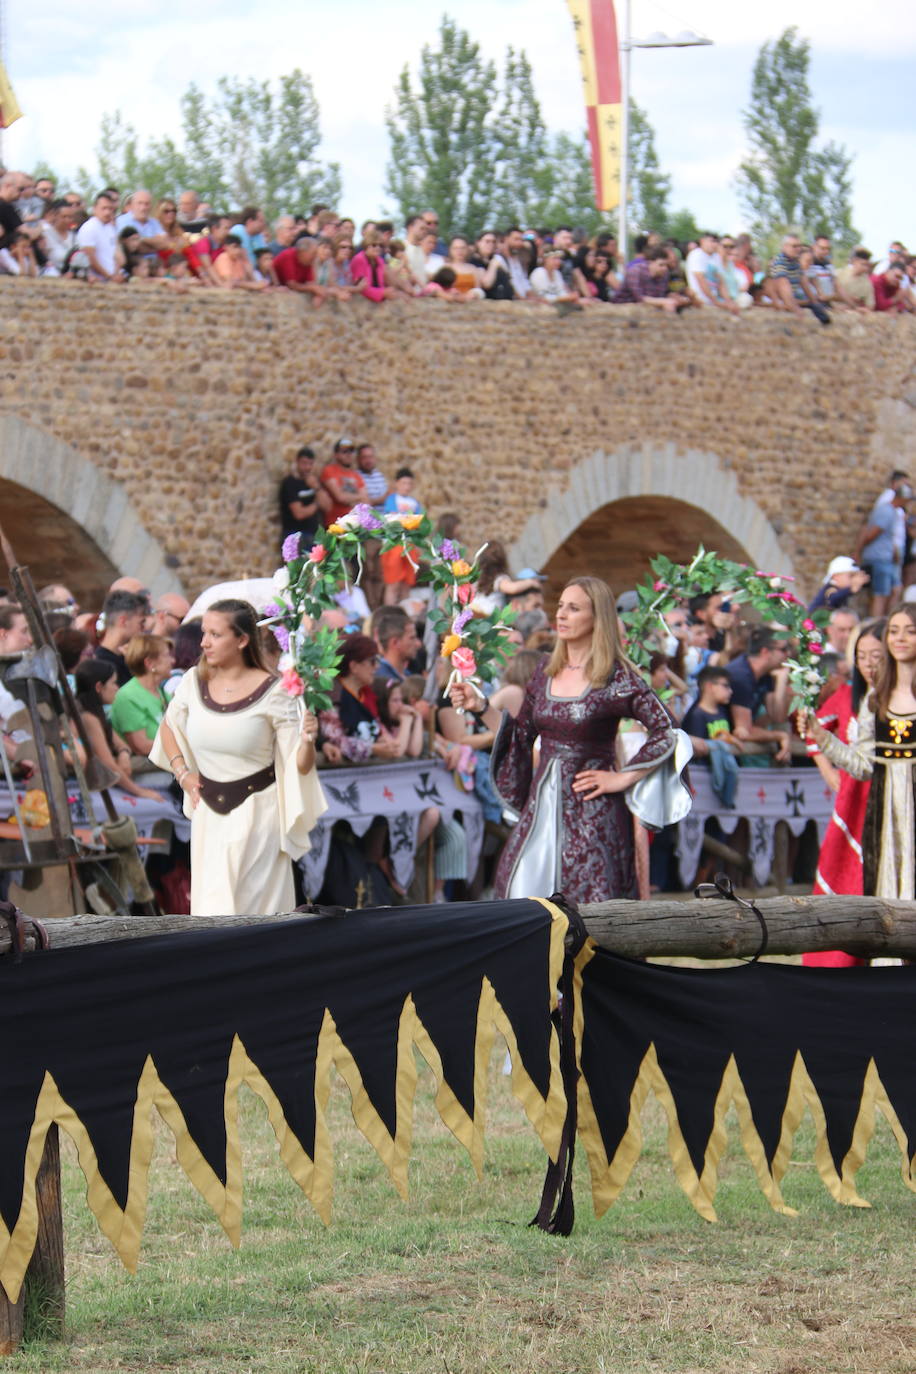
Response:
[[[238,1243],[242,1083],[264,1098],[284,1164],[325,1220],[332,1065],[404,1194],[413,1047],[437,1076],[442,1120],[479,1172],[499,1030],[512,1052],[512,1090],[556,1157],[566,1096],[551,1013],[566,930],[549,903],[467,903],[0,960],[0,1282],[8,1296],[15,1301],[34,1248],[34,1179],[52,1121],[76,1142],[89,1205],[129,1268],[146,1213],[152,1107]]]

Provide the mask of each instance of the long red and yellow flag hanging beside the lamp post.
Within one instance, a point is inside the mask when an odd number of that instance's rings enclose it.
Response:
[[[621,199],[621,63],[612,0],[567,0],[582,63],[595,205],[615,210]]]

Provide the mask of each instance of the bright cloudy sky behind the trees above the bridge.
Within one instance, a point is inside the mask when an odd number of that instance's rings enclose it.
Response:
[[[93,166],[99,121],[121,110],[141,137],[179,133],[179,98],[191,81],[275,77],[301,66],[321,107],[323,155],[343,170],[343,207],[357,221],[386,207],[383,111],[405,63],[433,43],[442,11],[501,59],[508,44],[533,63],[548,126],[584,126],[578,59],[563,0],[218,0],[195,11],[187,0],[155,7],[95,0],[5,0],[5,60],[25,111],[3,135],[8,166],[38,159],[62,174]],[[618,3],[619,10],[619,3]],[[799,12],[802,15],[799,21]],[[658,151],[673,177],[673,206],[735,231],[733,190],[744,153],[740,111],[761,43],[799,23],[812,43],[810,81],[821,136],[854,154],[854,221],[880,250],[894,236],[916,243],[916,132],[912,0],[633,0],[633,36],[695,29],[714,47],[633,54],[633,95],[648,111]]]

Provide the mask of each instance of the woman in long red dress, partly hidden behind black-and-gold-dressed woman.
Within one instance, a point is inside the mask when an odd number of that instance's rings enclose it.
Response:
[[[856,741],[857,716],[861,699],[875,686],[875,675],[884,658],[884,621],[864,625],[854,640],[853,682],[827,698],[817,712],[817,720],[824,730],[831,731],[851,745]],[[809,749],[825,780],[836,791],[834,815],[824,834],[813,892],[824,896],[843,893],[850,897],[862,894],[862,823],[871,778],[851,778],[831,764],[809,736]],[[817,954],[803,954],[802,963],[823,969],[845,969],[865,963],[843,954],[842,949],[823,949]]]

